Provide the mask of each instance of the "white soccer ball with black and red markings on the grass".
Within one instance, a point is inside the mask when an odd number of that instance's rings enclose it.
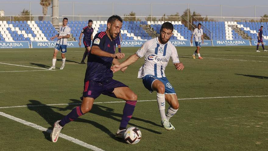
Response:
[[[136,127],[129,127],[124,133],[124,139],[129,144],[137,144],[141,138],[141,131]]]

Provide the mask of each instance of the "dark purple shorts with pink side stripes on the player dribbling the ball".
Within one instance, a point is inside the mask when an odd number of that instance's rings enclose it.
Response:
[[[96,99],[101,94],[104,94],[117,98],[113,93],[113,91],[115,88],[118,87],[128,87],[128,86],[114,79],[109,79],[107,82],[97,82],[93,80],[86,81],[84,83],[83,97],[90,97]]]

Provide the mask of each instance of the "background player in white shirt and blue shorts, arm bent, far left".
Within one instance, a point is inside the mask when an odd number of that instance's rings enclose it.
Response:
[[[50,38],[53,40],[54,38],[58,37],[58,41],[54,47],[54,54],[52,59],[52,66],[48,70],[55,69],[56,60],[57,60],[57,54],[59,51],[62,53],[62,66],[60,67],[60,70],[62,70],[65,66],[65,53],[67,52],[67,38],[70,38],[71,36],[71,29],[67,26],[68,18],[63,18],[62,21],[62,27],[60,27],[59,34],[55,35],[54,37]]]

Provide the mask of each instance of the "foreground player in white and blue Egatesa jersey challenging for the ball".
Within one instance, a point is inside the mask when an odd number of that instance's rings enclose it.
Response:
[[[113,72],[116,72],[144,56],[145,61],[139,69],[138,78],[143,79],[143,85],[150,92],[157,91],[157,103],[161,115],[161,124],[167,130],[175,129],[169,122],[169,119],[178,111],[179,103],[176,92],[166,78],[164,71],[170,58],[173,60],[173,64],[177,70],[183,70],[184,68],[183,64],[179,61],[175,46],[169,41],[173,29],[171,23],[163,23],[159,37],[146,41],[136,54],[111,68]],[[165,100],[170,105],[166,114]]]

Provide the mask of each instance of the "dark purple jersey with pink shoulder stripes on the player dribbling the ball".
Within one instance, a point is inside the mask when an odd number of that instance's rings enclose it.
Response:
[[[105,52],[115,53],[115,40],[107,36],[106,32],[99,32],[93,39],[92,46],[98,46]],[[113,77],[111,65],[114,58],[88,55],[85,82],[89,80],[103,82]]]

